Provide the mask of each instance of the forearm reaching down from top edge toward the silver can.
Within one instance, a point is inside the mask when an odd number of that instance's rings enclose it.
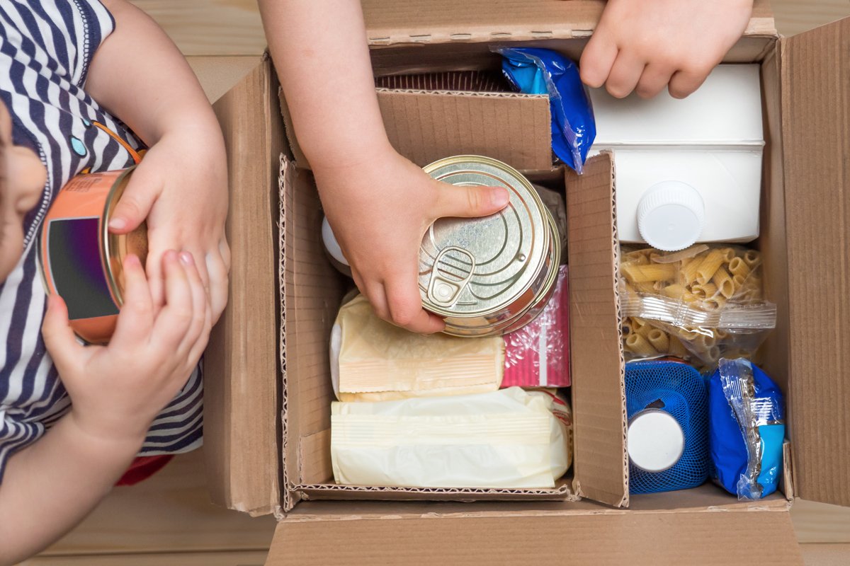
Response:
[[[360,0],[260,0],[298,143],[314,169],[389,148]]]

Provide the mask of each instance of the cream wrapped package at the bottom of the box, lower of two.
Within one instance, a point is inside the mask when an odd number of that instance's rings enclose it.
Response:
[[[519,387],[331,406],[339,484],[552,488],[570,468],[569,406]]]

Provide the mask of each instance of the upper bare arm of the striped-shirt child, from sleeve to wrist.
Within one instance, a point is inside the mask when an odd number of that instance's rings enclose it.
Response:
[[[104,3],[116,29],[94,55],[86,92],[148,146],[177,131],[195,133],[198,143],[218,143],[218,121],[174,43],[126,0]]]

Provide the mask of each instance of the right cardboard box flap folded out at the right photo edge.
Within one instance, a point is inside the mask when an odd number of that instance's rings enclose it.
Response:
[[[850,505],[850,19],[781,42],[796,495]]]

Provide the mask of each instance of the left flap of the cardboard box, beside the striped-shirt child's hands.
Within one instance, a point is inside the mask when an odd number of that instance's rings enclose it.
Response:
[[[276,85],[270,61],[255,59],[213,106],[227,147],[232,264],[229,305],[204,361],[207,486],[213,502],[252,514],[280,503],[275,246],[257,244],[276,239]]]

